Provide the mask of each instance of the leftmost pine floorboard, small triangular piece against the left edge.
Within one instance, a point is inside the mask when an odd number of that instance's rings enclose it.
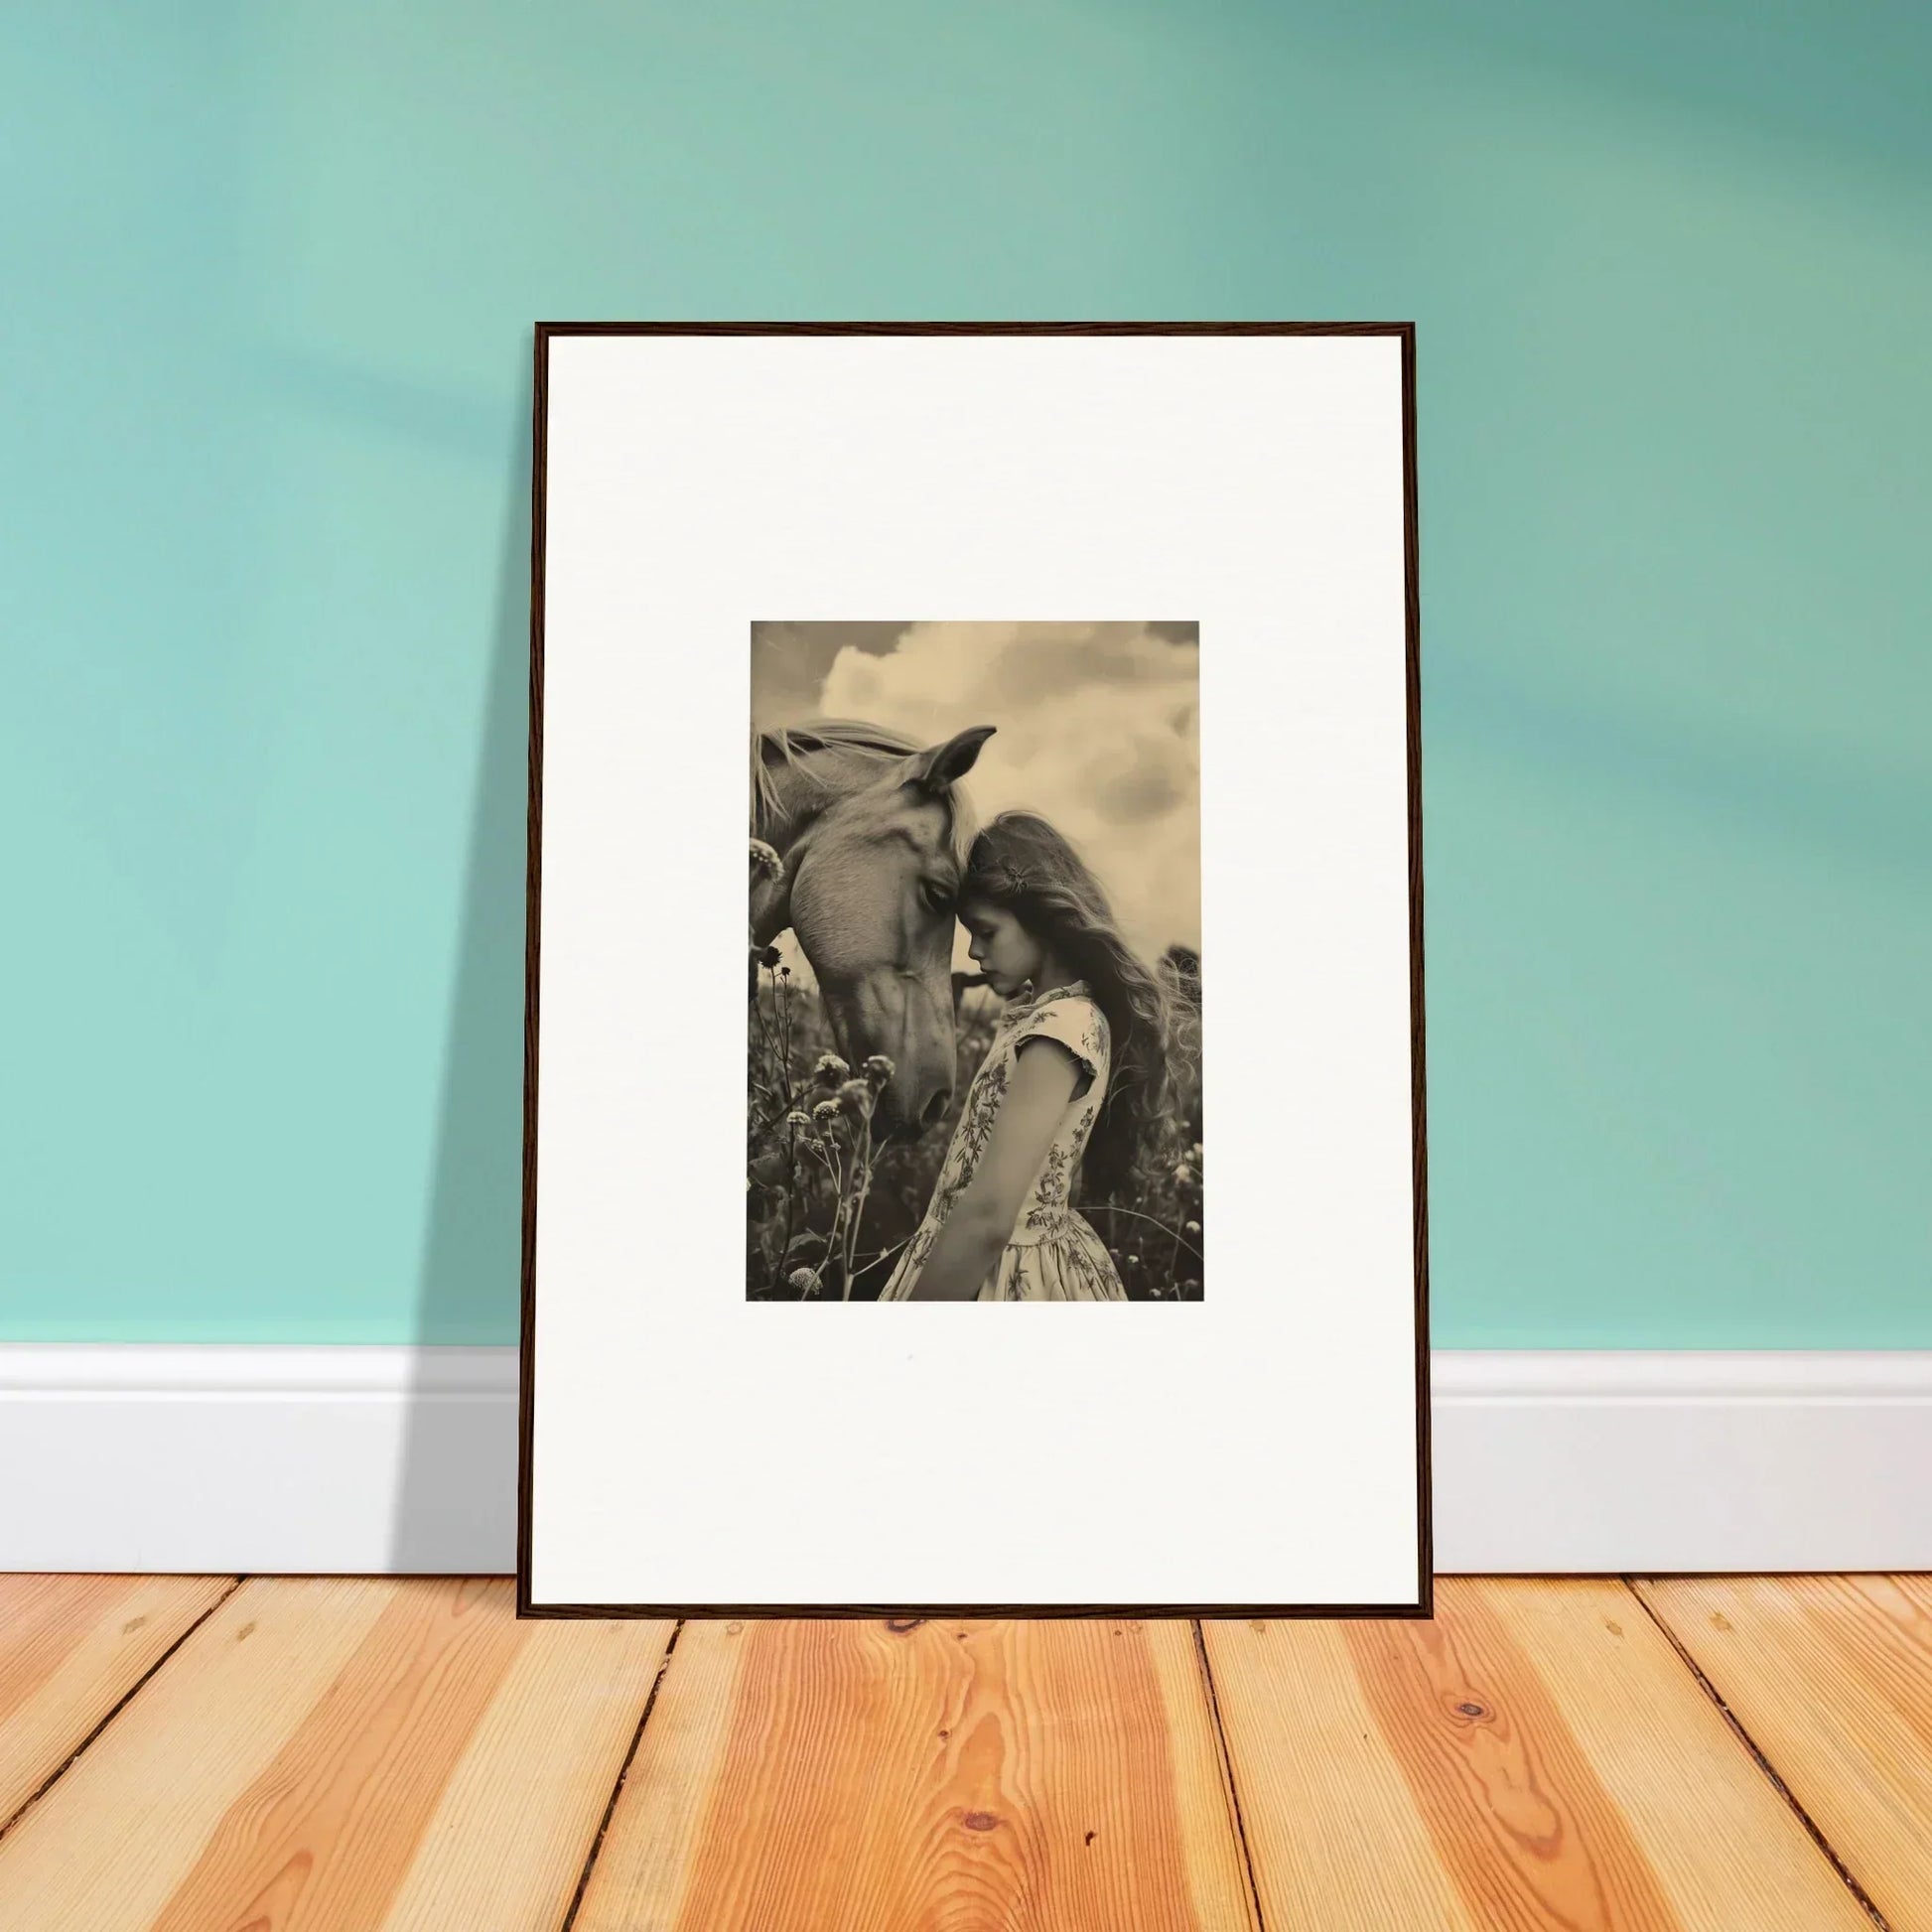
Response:
[[[0,1828],[232,1577],[0,1577]]]

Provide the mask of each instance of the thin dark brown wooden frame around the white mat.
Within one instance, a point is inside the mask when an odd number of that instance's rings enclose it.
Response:
[[[1410,1140],[1416,1312],[1416,1602],[1412,1604],[537,1604],[531,1600],[537,1314],[539,908],[543,891],[543,556],[549,350],[558,336],[1393,336],[1401,342],[1405,692],[1408,773]],[[1422,995],[1422,605],[1414,323],[539,323],[531,417],[529,811],[524,954],[524,1223],[518,1364],[518,1617],[1376,1617],[1434,1615],[1428,1323],[1428,1128]]]

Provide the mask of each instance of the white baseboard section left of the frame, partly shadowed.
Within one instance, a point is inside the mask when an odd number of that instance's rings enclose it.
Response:
[[[506,1575],[516,1350],[0,1345],[0,1571]]]

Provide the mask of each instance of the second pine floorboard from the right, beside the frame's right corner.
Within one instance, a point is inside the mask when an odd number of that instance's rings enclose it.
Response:
[[[1870,1932],[1617,1582],[1204,1634],[1269,1932]]]

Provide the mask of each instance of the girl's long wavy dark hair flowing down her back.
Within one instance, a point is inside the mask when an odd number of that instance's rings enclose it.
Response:
[[[1107,1095],[1082,1173],[1099,1198],[1122,1192],[1151,1150],[1167,1103],[1173,1053],[1167,989],[1121,937],[1099,879],[1037,811],[1001,811],[980,831],[958,896],[1010,912],[1080,974],[1107,1016]]]

